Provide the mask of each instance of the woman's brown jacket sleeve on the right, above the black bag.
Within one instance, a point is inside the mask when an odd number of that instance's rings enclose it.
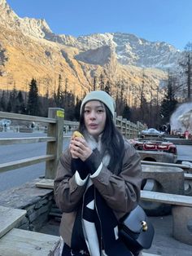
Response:
[[[92,181],[107,205],[116,214],[123,216],[133,210],[140,199],[142,183],[141,161],[133,146],[128,143],[125,144],[120,174],[112,174],[103,165],[98,176],[94,177]]]

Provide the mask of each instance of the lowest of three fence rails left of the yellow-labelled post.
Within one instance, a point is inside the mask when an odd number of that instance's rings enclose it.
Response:
[[[7,170],[15,170],[24,166],[32,166],[42,161],[54,160],[55,155],[43,155],[40,157],[29,157],[17,161],[10,161],[0,165],[0,173]]]

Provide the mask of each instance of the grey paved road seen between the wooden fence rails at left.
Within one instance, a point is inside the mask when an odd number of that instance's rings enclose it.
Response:
[[[14,133],[14,132],[1,132],[0,139],[2,138],[21,138],[21,137],[40,137],[46,136],[43,133]],[[68,145],[68,139],[63,141],[63,149]],[[28,143],[0,146],[0,163],[8,161],[20,160],[22,158],[37,157],[46,154],[46,143]],[[37,165],[27,166],[24,168],[10,170],[0,173],[0,192],[20,186],[23,183],[36,179],[45,175],[45,162]]]

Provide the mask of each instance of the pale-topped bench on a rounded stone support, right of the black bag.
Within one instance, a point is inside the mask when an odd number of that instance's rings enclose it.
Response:
[[[172,205],[172,235],[178,241],[192,245],[192,196],[144,190],[141,199]]]

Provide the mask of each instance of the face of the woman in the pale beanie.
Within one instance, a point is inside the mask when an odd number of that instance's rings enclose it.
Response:
[[[89,135],[97,137],[100,135],[106,123],[106,110],[102,102],[91,100],[85,104],[84,110],[85,127]]]

